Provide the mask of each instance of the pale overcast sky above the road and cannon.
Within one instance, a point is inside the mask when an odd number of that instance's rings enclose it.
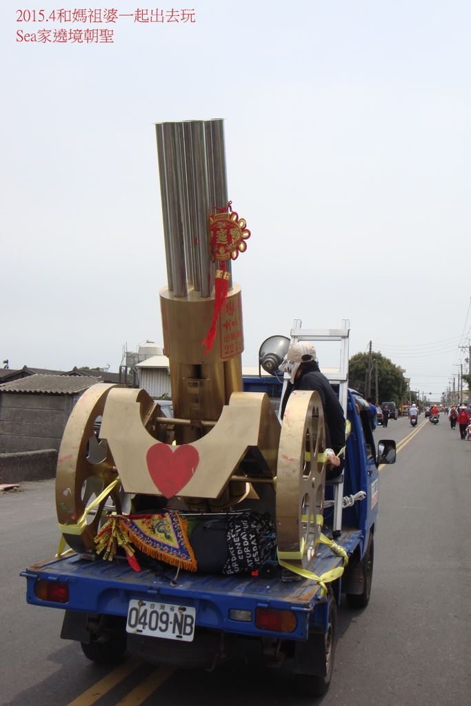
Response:
[[[119,13],[95,25],[52,16],[78,1],[35,17],[1,4],[0,362],[117,371],[124,349],[162,345],[155,124],[222,118],[229,198],[251,230],[232,266],[243,365],[295,319],[347,319],[350,355],[371,341],[432,398],[458,384],[471,4],[192,0],[184,22],[170,0],[165,22],[138,23],[156,7],[138,3],[88,4]],[[64,28],[113,41],[25,40]]]

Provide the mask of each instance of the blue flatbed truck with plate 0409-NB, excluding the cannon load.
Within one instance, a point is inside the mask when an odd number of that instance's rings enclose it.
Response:
[[[95,662],[112,664],[130,653],[153,664],[209,669],[249,641],[268,664],[290,664],[302,693],[326,693],[342,596],[351,609],[369,602],[385,445],[379,441],[376,450],[369,405],[350,389],[346,417],[342,526],[335,528],[335,483],[327,484],[327,543],[307,576],[287,572],[276,554],[257,570],[220,575],[176,573],[160,562],[136,573],[124,555],[105,561],[69,550],[21,573],[28,603],[64,610],[61,638],[80,642]],[[394,460],[389,454],[387,462]]]

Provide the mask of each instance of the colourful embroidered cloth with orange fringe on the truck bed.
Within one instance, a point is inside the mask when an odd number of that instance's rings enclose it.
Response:
[[[136,549],[172,566],[196,571],[196,558],[188,539],[188,522],[175,510],[153,515],[109,515],[95,537],[97,553],[112,561],[118,549],[124,550],[135,571],[141,567]]]

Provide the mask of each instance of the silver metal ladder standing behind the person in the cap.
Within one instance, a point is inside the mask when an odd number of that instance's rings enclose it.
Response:
[[[292,343],[299,341],[308,341],[316,343],[316,341],[335,342],[340,341],[340,361],[338,369],[321,369],[321,372],[326,376],[331,385],[338,386],[338,398],[342,405],[343,414],[347,419],[347,397],[348,397],[348,345],[350,336],[350,320],[342,319],[342,328],[328,329],[311,329],[302,328],[302,321],[299,318],[294,319],[290,337]],[[285,373],[283,387],[281,393],[281,402],[285,396],[289,376]],[[280,416],[280,412],[278,412]],[[343,498],[343,474],[340,479],[332,483],[334,489],[334,513],[333,513],[333,536],[338,537],[342,533],[342,498]]]

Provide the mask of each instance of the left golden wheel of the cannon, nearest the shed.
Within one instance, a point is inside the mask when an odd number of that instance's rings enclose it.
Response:
[[[68,546],[78,552],[95,549],[94,538],[105,506],[121,513],[121,484],[115,484],[100,503],[85,514],[94,498],[117,479],[107,441],[97,436],[97,421],[109,390],[117,385],[97,383],[78,400],[68,418],[59,448],[56,472],[57,519]],[[70,527],[70,532],[66,530]]]

